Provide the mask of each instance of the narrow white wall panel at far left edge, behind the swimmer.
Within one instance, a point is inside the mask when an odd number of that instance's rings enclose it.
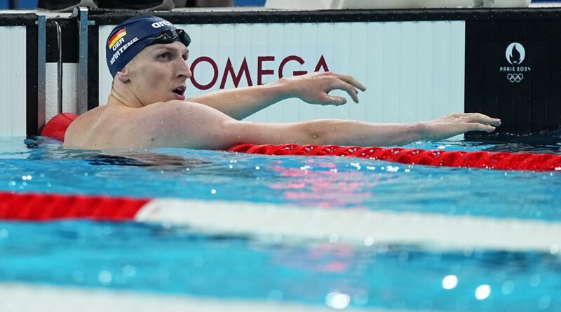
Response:
[[[25,26],[0,27],[0,136],[26,135]]]

